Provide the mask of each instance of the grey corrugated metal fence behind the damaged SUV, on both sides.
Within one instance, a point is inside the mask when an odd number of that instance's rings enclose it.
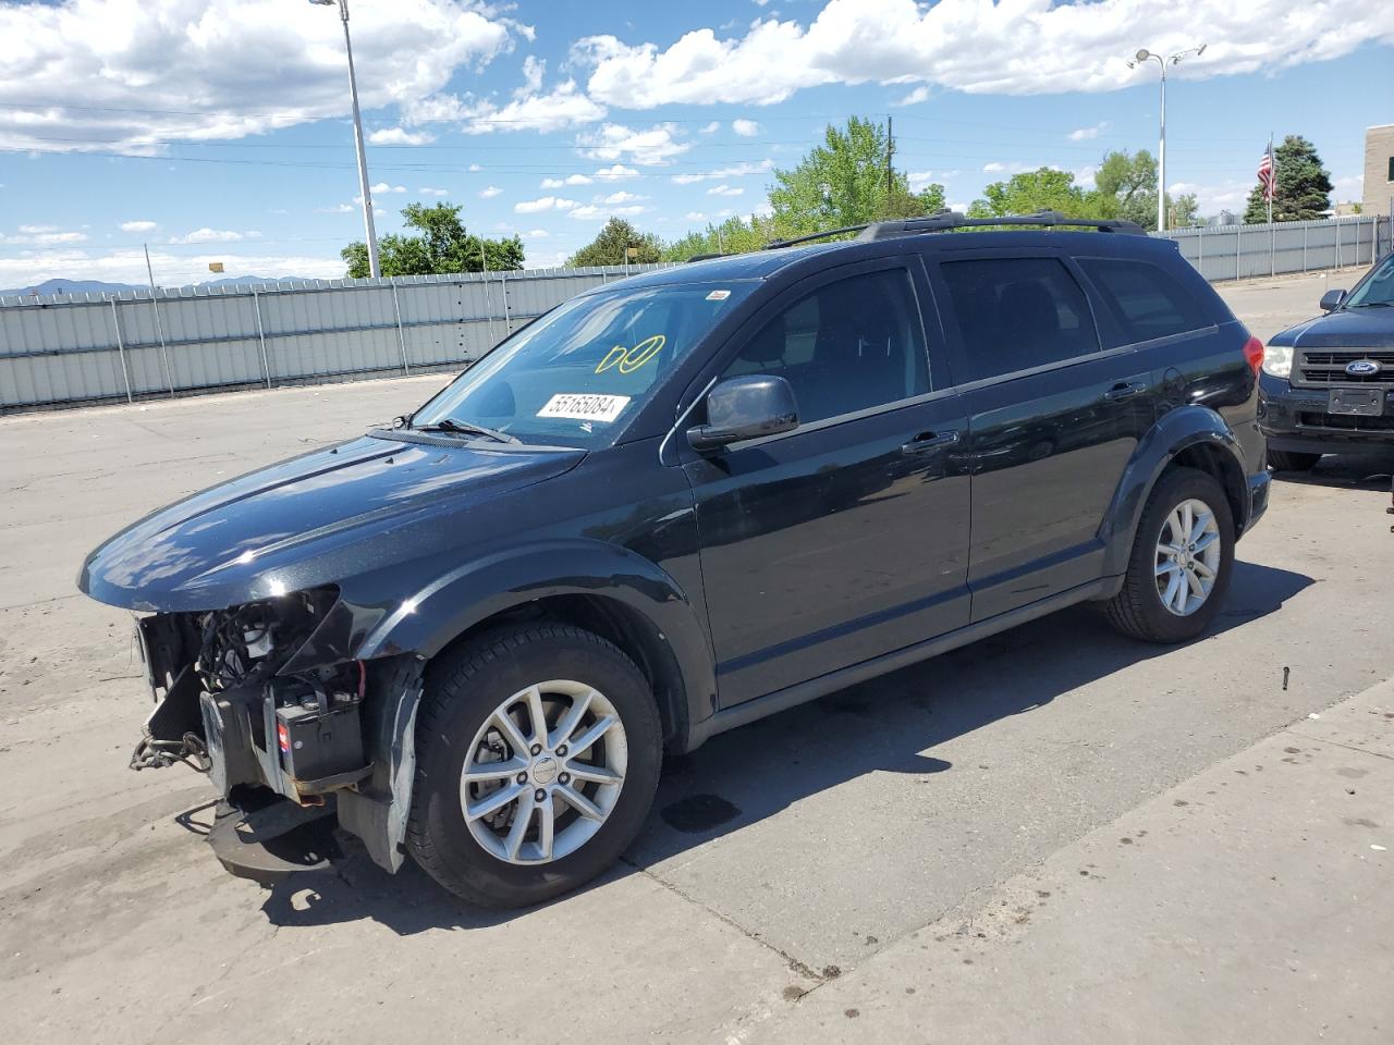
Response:
[[[1163,235],[1211,281],[1363,268],[1391,244],[1390,219],[1374,215]],[[0,411],[457,366],[553,305],[654,268],[0,298]]]

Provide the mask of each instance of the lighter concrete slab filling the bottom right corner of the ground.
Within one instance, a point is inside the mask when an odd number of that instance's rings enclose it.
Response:
[[[760,1042],[1388,1042],[1394,684],[820,984]]]

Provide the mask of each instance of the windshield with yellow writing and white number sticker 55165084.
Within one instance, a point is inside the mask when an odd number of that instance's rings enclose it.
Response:
[[[691,347],[757,284],[686,283],[588,294],[519,330],[411,418],[524,443],[608,446]]]

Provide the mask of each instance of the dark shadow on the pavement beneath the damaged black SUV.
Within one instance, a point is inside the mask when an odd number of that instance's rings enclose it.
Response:
[[[1278,610],[1310,585],[1303,574],[1235,562],[1225,607],[1210,631]],[[616,869],[590,888],[671,860],[802,798],[871,772],[952,772],[933,750],[953,737],[1043,708],[1062,694],[1140,660],[1156,647],[1114,633],[1096,607],[1078,606],[881,679],[853,686],[715,737],[669,758],[654,812]],[[396,876],[344,836],[333,871],[304,872],[273,886],[262,906],[276,925],[371,918],[401,935],[484,928],[526,917],[466,904],[407,862]],[[566,903],[560,897],[553,903]],[[538,908],[530,908],[538,910]]]

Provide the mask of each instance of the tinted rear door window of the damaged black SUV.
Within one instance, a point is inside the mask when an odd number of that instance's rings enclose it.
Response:
[[[963,340],[960,383],[1098,351],[1085,291],[1058,258],[947,261],[940,272]]]

